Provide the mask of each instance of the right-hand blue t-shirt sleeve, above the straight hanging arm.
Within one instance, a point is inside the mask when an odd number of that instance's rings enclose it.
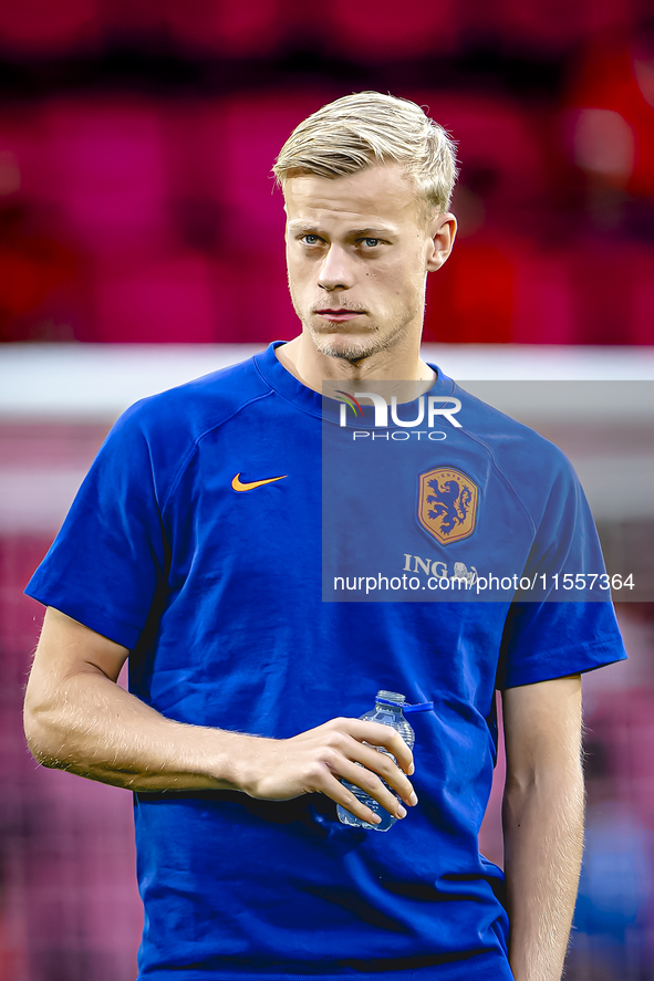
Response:
[[[523,576],[533,585],[518,593],[510,607],[498,688],[582,674],[626,658],[595,524],[562,453]]]

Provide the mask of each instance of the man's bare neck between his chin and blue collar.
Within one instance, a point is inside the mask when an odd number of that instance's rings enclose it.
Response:
[[[308,334],[300,334],[276,348],[283,367],[314,392],[322,392],[324,382],[347,387],[364,382],[434,382],[434,372],[414,345],[380,351],[370,357],[351,362],[321,354]]]

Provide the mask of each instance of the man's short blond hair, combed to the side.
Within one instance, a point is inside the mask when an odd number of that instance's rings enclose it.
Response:
[[[333,179],[391,161],[415,180],[419,197],[447,211],[456,144],[415,102],[381,92],[355,92],[313,113],[293,129],[272,173],[283,189],[298,174]]]

